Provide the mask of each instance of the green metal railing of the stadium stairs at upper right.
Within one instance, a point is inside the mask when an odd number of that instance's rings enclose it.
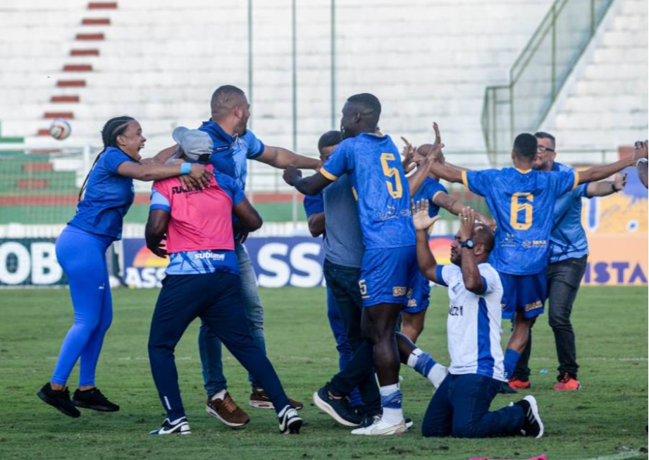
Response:
[[[557,0],[509,72],[487,87],[482,114],[490,161],[517,133],[537,131],[614,0]]]

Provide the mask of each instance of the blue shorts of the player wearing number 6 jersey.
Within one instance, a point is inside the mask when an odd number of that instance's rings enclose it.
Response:
[[[502,318],[513,320],[517,312],[524,313],[528,320],[545,313],[548,298],[548,277],[545,272],[517,276],[500,274],[502,288]]]

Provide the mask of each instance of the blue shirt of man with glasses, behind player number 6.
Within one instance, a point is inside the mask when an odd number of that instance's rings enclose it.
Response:
[[[574,169],[555,163],[552,171],[574,171]],[[581,259],[588,255],[588,238],[581,224],[582,200],[588,198],[587,192],[588,184],[584,183],[557,200],[550,237],[550,263]]]

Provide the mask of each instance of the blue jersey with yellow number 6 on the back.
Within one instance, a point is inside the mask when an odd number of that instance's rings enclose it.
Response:
[[[486,199],[497,222],[491,265],[518,276],[543,272],[557,198],[579,186],[579,173],[506,168],[464,171],[462,179],[466,188]]]

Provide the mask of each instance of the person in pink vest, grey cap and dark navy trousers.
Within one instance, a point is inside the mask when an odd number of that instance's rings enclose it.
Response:
[[[178,132],[179,130],[180,133]],[[178,128],[187,154],[209,155],[209,135]],[[192,146],[209,145],[197,152]],[[214,167],[209,167],[212,171]],[[290,404],[266,353],[250,334],[235,253],[232,215],[242,231],[261,228],[261,217],[232,178],[216,173],[204,190],[183,188],[178,179],[156,182],[147,224],[147,247],[156,255],[171,254],[149,337],[149,358],[167,418],[152,435],[187,435],[173,351],[190,323],[200,317],[210,334],[264,385],[280,419],[283,434],[299,434],[302,420]],[[166,236],[166,248],[161,246]]]

